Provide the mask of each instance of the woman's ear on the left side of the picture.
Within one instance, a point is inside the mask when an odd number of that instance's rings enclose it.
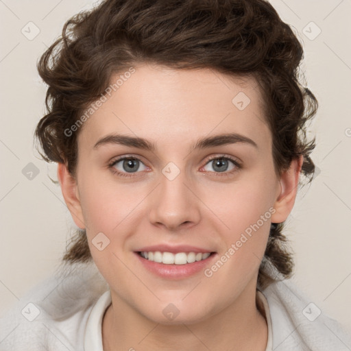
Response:
[[[64,202],[66,202],[73,221],[78,228],[84,229],[84,217],[82,206],[80,205],[80,197],[78,192],[77,181],[69,173],[64,163],[58,163],[58,181],[60,182]]]

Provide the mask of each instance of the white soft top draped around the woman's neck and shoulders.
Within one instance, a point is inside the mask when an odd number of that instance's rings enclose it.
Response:
[[[58,269],[0,319],[0,351],[103,351],[101,320],[110,290],[95,263]],[[269,263],[267,273],[276,277]],[[260,291],[261,290],[261,291]],[[258,287],[266,314],[266,351],[350,351],[351,337],[290,280]]]

